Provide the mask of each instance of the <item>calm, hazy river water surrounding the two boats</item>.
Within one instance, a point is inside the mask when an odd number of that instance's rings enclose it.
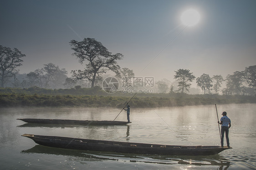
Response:
[[[28,124],[16,118],[113,120],[118,108],[0,108],[2,170],[254,170],[256,104],[217,105],[231,119],[233,149],[211,156],[175,156],[77,151],[37,145],[25,133],[163,145],[220,145],[215,105],[138,109],[122,126]],[[123,111],[116,119],[126,121]],[[225,144],[225,140],[224,140]]]

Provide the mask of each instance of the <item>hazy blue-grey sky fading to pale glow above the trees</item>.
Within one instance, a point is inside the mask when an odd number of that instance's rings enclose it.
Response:
[[[193,27],[180,19],[189,8],[200,13]],[[0,0],[0,45],[26,54],[20,73],[83,68],[69,42],[84,38],[122,53],[135,76],[173,81],[183,68],[225,78],[256,65],[256,0]]]

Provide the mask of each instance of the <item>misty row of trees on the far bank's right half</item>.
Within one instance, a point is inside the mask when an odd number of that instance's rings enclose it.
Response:
[[[159,92],[174,93],[174,92],[189,92],[191,82],[195,80],[195,76],[188,69],[179,69],[174,71],[174,79],[177,80],[177,90],[174,90],[173,84],[169,87],[169,81],[163,79],[156,84],[159,88]],[[222,83],[225,82],[225,88],[222,88]],[[246,67],[244,71],[236,71],[233,74],[228,74],[224,79],[222,75],[213,75],[203,73],[200,77],[196,78],[197,86],[202,89],[204,94],[215,93],[219,94],[221,91],[224,95],[255,95],[256,94],[256,65]]]

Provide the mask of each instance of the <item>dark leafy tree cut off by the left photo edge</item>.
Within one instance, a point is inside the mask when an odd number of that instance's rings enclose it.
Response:
[[[3,47],[0,45],[0,78],[1,78],[1,87],[4,87],[4,84],[8,78],[13,77],[17,70],[15,68],[21,66],[23,60],[20,59],[25,57],[25,54],[22,54],[18,49],[14,48],[11,50],[9,47]]]

